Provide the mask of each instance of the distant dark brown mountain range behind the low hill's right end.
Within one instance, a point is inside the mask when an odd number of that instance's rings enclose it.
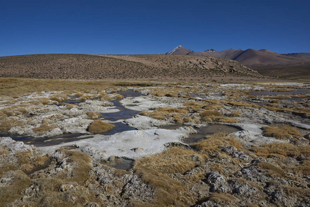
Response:
[[[183,47],[182,50],[186,51],[188,49]],[[266,49],[189,51],[191,52],[188,52],[186,55],[233,59],[244,66],[257,70],[262,75],[289,78],[309,76],[310,73],[310,53],[278,54]],[[176,54],[178,54],[178,48],[170,52],[170,55]]]

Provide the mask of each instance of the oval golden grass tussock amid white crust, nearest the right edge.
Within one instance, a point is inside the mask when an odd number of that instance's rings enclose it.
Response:
[[[302,134],[294,127],[287,124],[271,124],[271,126],[265,126],[263,135],[266,137],[275,137],[277,139],[289,139],[302,137]]]

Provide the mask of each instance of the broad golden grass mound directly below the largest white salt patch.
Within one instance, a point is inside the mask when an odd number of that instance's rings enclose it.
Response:
[[[185,173],[200,164],[202,158],[193,150],[170,148],[163,153],[136,161],[136,166],[153,168],[161,173]]]

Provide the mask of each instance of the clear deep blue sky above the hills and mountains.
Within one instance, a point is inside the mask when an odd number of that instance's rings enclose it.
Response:
[[[0,56],[310,52],[309,0],[0,0]]]

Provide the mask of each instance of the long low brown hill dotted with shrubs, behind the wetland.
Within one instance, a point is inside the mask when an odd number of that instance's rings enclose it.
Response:
[[[0,77],[63,79],[260,77],[237,61],[175,55],[21,55],[0,57]]]

